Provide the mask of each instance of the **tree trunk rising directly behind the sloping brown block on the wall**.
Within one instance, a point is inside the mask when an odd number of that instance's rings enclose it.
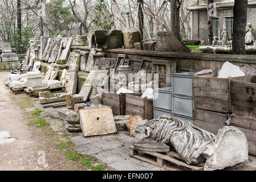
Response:
[[[180,38],[180,9],[177,8],[178,0],[169,0],[170,2],[170,31],[174,32]],[[180,6],[179,6],[180,7]]]

